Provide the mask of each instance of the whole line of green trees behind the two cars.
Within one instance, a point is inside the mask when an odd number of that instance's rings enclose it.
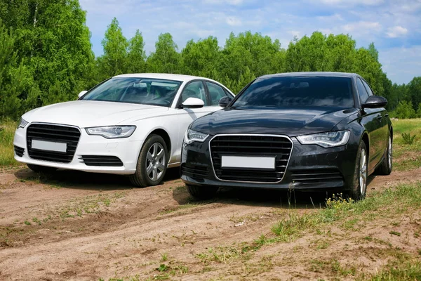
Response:
[[[74,100],[79,91],[121,73],[192,74],[221,81],[237,93],[260,75],[298,71],[359,73],[389,100],[387,107],[397,117],[421,117],[421,77],[392,84],[374,44],[356,48],[345,34],[314,32],[285,49],[259,33],[232,33],[223,48],[208,37],[180,49],[171,34],[163,33],[147,55],[142,32],[127,39],[114,18],[102,46],[103,55],[95,58],[78,0],[0,0],[0,118]]]

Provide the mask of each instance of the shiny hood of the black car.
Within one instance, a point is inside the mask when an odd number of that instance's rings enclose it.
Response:
[[[267,133],[298,136],[332,130],[355,108],[288,107],[284,109],[225,109],[197,119],[192,129],[216,135],[220,133]]]

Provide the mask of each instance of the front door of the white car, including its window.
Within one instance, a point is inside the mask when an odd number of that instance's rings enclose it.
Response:
[[[187,100],[187,98],[200,98],[203,100],[204,106],[201,108],[182,108],[181,104]],[[179,126],[177,148],[174,154],[176,162],[180,162],[182,140],[189,124],[199,117],[220,109],[221,107],[218,106],[218,104],[213,105],[213,103],[210,102],[204,81],[194,80],[186,84],[184,89],[182,89],[176,109],[176,118]]]

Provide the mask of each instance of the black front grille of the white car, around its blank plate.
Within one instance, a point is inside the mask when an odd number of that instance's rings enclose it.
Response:
[[[74,152],[76,152],[80,137],[81,131],[74,127],[53,124],[31,124],[27,128],[28,155],[32,159],[70,163],[74,157]],[[32,140],[66,143],[67,150],[66,152],[55,152],[32,149]]]

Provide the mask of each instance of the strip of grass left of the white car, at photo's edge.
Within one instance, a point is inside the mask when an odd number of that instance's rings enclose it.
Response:
[[[0,122],[0,166],[18,165],[13,158],[13,137],[17,126],[18,123],[14,121]]]

